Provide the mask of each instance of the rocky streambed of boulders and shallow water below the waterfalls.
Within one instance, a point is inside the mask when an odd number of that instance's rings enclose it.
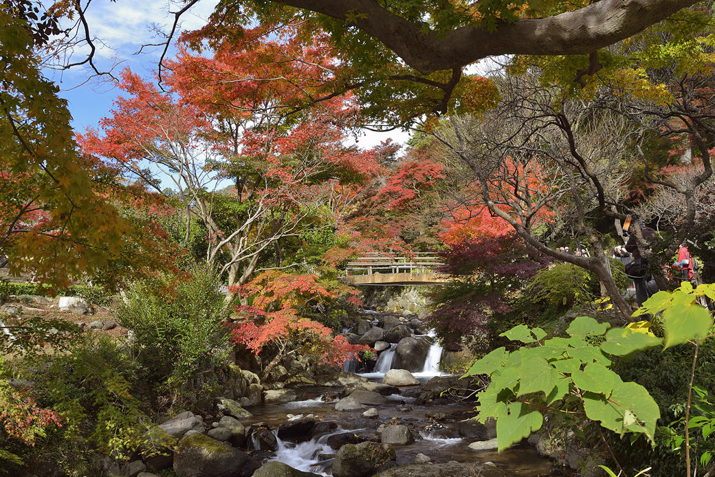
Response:
[[[474,403],[440,398],[454,381],[395,386],[335,373],[322,379],[328,385],[269,391],[263,403],[245,408],[217,398],[211,414],[183,413],[162,423],[152,449],[137,451],[122,468],[107,459],[105,473],[150,477],[169,467],[178,477],[552,473],[553,463],[528,444],[498,454],[495,423],[470,420]]]

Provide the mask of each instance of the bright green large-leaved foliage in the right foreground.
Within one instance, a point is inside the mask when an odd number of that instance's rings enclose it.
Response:
[[[696,299],[714,294],[715,285],[693,290],[684,282],[672,293],[660,292],[651,297],[636,315],[662,313],[663,338],[647,333],[647,328],[608,330],[608,323],[588,317],[573,320],[566,330],[570,338],[545,339],[546,332],[541,328],[526,325],[512,328],[504,335],[526,346],[512,353],[505,348],[493,350],[465,374],[486,374],[491,378],[488,388],[479,395],[480,420],[491,416],[502,422],[497,426],[500,451],[541,428],[545,412],[561,416],[567,424],[577,427],[588,426],[588,421],[583,421],[587,418],[620,436],[634,433],[631,443],[638,434],[654,443],[656,421],[661,416],[659,405],[644,386],[624,382],[611,369],[618,362],[613,358],[629,360],[636,353],[661,345],[667,350],[706,338],[713,319]],[[600,344],[594,345],[596,342]],[[700,415],[688,422],[706,438],[715,430],[715,407],[707,393],[698,389],[694,407]],[[672,428],[660,432],[670,433],[671,448],[681,443]],[[685,433],[688,432],[686,427]],[[709,450],[701,452],[701,462],[709,461]]]

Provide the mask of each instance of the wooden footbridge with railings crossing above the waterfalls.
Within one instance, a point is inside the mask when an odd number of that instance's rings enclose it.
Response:
[[[434,272],[444,265],[431,252],[417,252],[415,257],[368,254],[348,262],[347,275],[340,279],[346,285],[445,285],[450,277]]]

